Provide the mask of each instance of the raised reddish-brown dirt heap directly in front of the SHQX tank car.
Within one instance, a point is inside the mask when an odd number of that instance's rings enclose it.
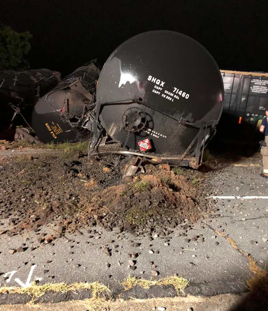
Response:
[[[190,179],[153,166],[146,169],[154,170],[154,174],[140,174],[139,178],[127,179],[118,186],[96,190],[87,212],[95,213],[100,219],[104,214],[107,219],[113,214],[124,227],[137,231],[143,230],[144,225],[149,224],[151,228],[156,223],[161,225],[166,219],[175,225],[182,219],[195,221],[200,216],[200,189]],[[80,204],[82,208],[85,202]]]

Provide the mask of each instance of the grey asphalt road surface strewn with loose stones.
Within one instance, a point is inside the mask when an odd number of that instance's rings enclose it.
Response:
[[[233,239],[259,267],[265,268],[268,199],[237,198],[267,195],[268,180],[260,176],[261,170],[261,158],[254,158],[235,165],[230,163],[210,173],[209,182],[214,185],[214,191],[207,196],[218,197],[211,198],[211,201],[219,211],[211,216],[204,215],[203,221],[193,224],[187,231],[180,227],[172,229],[172,233],[166,236],[151,233],[134,237],[129,233],[107,232],[94,227],[90,229],[93,230],[91,233],[88,233],[88,228],[79,230],[32,251],[31,247],[40,245],[40,234],[54,234],[58,228],[47,225],[40,227],[39,232],[12,237],[2,234],[0,286],[27,286],[38,278],[40,284],[99,281],[116,291],[118,281],[128,275],[150,279],[154,270],[158,277],[177,273],[189,279],[190,286],[185,291],[191,295],[243,293],[248,290],[246,281],[253,276],[248,258],[215,231]],[[221,198],[225,196],[234,198]],[[8,228],[8,220],[2,222],[0,232]],[[185,220],[186,224],[188,222]],[[19,247],[27,249],[9,253],[9,249]],[[106,247],[110,249],[111,256],[104,253]],[[137,258],[129,258],[133,252]],[[83,295],[77,297],[86,298],[86,294]],[[127,293],[127,296],[139,299],[169,295],[176,295],[176,292],[152,288],[150,291],[133,289]],[[0,303],[19,301],[9,301],[7,296],[0,295]]]

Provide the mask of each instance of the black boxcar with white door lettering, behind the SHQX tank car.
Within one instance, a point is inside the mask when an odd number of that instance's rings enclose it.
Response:
[[[268,73],[221,70],[224,85],[219,136],[231,141],[256,142],[268,106]]]

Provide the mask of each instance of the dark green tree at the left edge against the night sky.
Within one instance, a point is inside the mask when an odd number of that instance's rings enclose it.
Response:
[[[21,71],[29,68],[25,55],[31,49],[29,31],[18,33],[11,27],[0,25],[0,71]]]

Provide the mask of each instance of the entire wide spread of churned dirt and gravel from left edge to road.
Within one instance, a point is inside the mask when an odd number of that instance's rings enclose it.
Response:
[[[10,231],[53,224],[67,230],[101,225],[111,231],[150,232],[204,212],[204,175],[146,165],[146,173],[122,180],[112,159],[89,161],[63,152],[0,162],[0,219]]]

